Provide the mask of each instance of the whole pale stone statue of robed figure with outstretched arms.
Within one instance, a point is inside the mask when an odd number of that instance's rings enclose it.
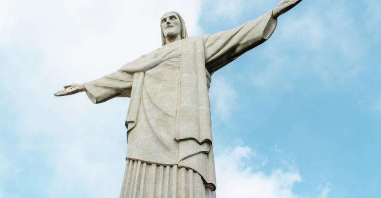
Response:
[[[161,19],[163,47],[54,94],[85,91],[94,104],[131,97],[121,198],[215,197],[211,75],[269,39],[277,18],[300,2],[282,0],[237,28],[189,38],[182,17],[168,12]]]

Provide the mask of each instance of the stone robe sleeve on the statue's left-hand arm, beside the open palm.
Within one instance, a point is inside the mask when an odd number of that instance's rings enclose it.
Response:
[[[130,97],[133,75],[118,70],[97,80],[86,82],[83,86],[94,104],[103,103],[114,97]]]

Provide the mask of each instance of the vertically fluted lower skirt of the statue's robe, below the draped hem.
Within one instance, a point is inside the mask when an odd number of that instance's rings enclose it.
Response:
[[[215,198],[192,169],[127,160],[120,198]]]

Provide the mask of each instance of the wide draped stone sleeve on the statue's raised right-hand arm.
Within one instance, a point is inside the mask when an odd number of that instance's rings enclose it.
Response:
[[[234,29],[205,35],[206,69],[213,74],[238,56],[269,39],[275,30],[277,19],[272,10],[265,15]]]

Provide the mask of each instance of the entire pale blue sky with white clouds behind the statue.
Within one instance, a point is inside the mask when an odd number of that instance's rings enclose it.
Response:
[[[117,197],[129,98],[53,93],[160,47],[168,11],[197,36],[277,4],[1,0],[0,197]],[[305,0],[213,74],[217,197],[380,196],[379,24],[376,0]]]

